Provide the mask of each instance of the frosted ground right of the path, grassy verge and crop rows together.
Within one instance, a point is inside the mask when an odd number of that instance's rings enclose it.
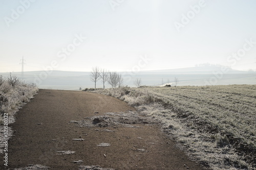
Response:
[[[98,89],[161,121],[191,159],[255,169],[256,85]]]

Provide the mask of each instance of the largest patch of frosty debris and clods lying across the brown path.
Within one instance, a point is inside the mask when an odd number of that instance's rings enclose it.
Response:
[[[70,123],[78,124],[80,127],[126,127],[139,128],[138,124],[157,124],[157,120],[146,117],[135,111],[108,112],[101,116],[86,117],[82,120],[71,120]]]

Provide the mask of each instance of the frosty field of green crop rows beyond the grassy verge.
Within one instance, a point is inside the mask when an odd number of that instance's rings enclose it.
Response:
[[[193,114],[243,139],[254,148],[256,139],[256,86],[150,88],[165,104]],[[193,125],[191,125],[193,127]]]

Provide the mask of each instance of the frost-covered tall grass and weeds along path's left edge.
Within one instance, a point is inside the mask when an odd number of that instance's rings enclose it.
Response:
[[[8,115],[8,124],[14,122],[13,114],[25,105],[37,92],[34,84],[26,84],[15,76],[4,78],[0,76],[0,153],[3,153],[4,140],[4,115]],[[8,127],[8,137],[12,134]]]

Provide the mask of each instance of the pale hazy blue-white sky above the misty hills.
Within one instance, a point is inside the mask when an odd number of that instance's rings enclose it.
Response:
[[[256,69],[255,9],[255,0],[0,0],[0,72],[20,71],[23,56],[25,71]]]

